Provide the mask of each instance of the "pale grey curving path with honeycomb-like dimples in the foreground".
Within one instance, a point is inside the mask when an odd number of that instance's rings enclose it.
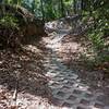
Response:
[[[53,32],[48,40],[45,39],[49,48],[49,55],[45,58],[46,75],[51,78],[48,85],[55,97],[55,107],[50,109],[109,109],[109,102],[101,101],[105,94],[92,92],[89,86],[81,82],[77,73],[68,69],[57,56],[61,39],[66,34]]]

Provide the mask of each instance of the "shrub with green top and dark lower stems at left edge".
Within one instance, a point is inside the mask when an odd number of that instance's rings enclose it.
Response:
[[[19,20],[11,13],[0,17],[0,45],[1,47],[15,47],[20,44]]]

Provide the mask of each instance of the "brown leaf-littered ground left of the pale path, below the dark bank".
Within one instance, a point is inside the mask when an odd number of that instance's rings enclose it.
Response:
[[[43,65],[45,55],[36,38],[15,51],[0,50],[0,109],[47,106],[51,95]]]

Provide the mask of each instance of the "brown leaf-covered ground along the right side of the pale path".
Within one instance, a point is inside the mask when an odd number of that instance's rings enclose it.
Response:
[[[84,82],[104,88],[109,83],[109,75],[88,60],[94,55],[89,52],[90,48],[92,45],[85,36],[66,35],[62,39],[58,56],[69,69],[77,71]]]

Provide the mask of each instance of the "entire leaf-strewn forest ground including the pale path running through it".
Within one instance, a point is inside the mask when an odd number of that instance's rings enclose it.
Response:
[[[0,109],[109,109],[109,78],[85,60],[85,37],[36,40],[0,51]]]

